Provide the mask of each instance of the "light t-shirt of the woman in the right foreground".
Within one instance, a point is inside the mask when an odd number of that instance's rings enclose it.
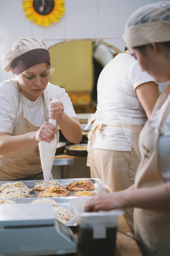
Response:
[[[170,95],[161,108],[157,110],[155,115],[150,119],[152,127],[159,127],[163,113],[165,112],[169,102]],[[158,141],[158,166],[165,182],[170,182],[170,113],[163,122],[163,134],[160,135]]]

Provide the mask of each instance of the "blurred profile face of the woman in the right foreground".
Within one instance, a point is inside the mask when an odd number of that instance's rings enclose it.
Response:
[[[147,45],[144,53],[135,48],[128,49],[132,56],[139,61],[141,69],[154,77],[157,83],[170,80],[170,58],[168,57],[170,51],[162,47],[159,45],[159,47],[153,49],[150,45]]]

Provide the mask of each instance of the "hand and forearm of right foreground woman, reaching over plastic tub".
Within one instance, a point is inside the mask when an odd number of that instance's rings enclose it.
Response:
[[[170,211],[170,182],[159,186],[125,189],[113,194],[97,195],[85,205],[85,211],[99,211],[136,207]]]

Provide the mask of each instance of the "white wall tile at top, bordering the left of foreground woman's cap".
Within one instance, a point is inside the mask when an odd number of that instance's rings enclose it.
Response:
[[[119,38],[130,16],[130,0],[99,0],[99,38]]]

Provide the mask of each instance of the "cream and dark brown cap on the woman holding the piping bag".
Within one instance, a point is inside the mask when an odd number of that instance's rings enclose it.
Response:
[[[49,62],[49,47],[42,39],[23,38],[14,42],[12,49],[2,57],[4,71],[21,74],[33,65]]]

